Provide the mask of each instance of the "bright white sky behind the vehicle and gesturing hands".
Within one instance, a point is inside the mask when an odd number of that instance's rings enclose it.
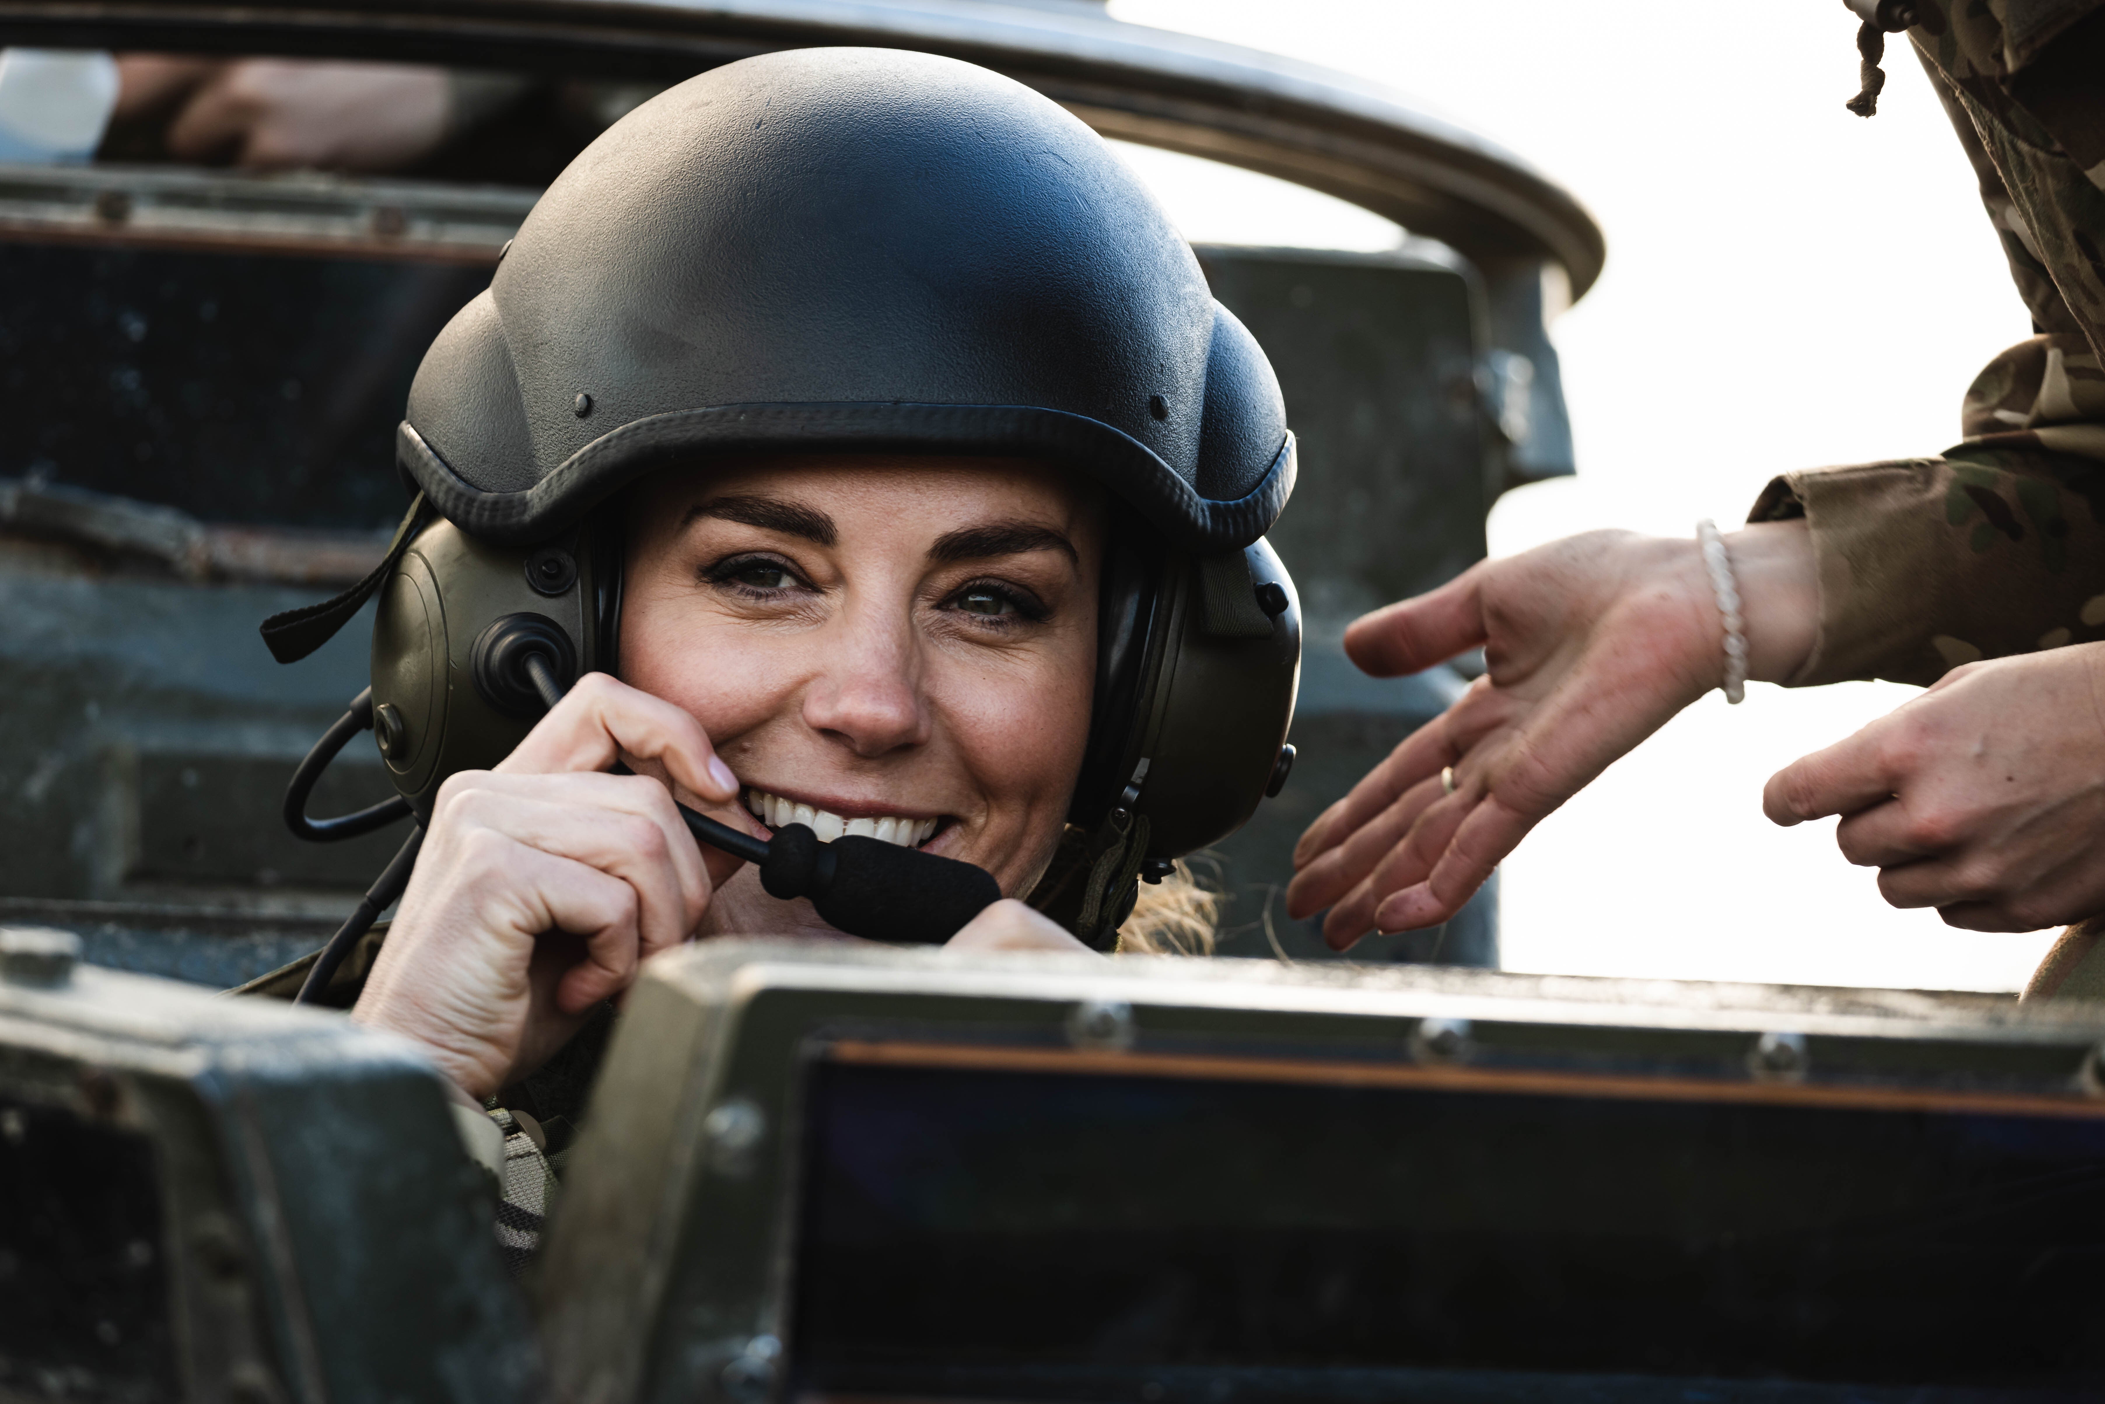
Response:
[[[1579,478],[1507,495],[1495,556],[1575,530],[1739,522],[1777,472],[1937,453],[2029,335],[1926,76],[1888,48],[1880,116],[1836,0],[1111,0],[1120,19],[1370,76],[1518,152],[1608,234],[1556,326]],[[1608,19],[1612,15],[1612,21]],[[1135,149],[1194,240],[1379,248],[1394,225],[1263,177]],[[1833,823],[1777,829],[1762,781],[1913,688],[1756,684],[1690,707],[1505,865],[1516,970],[2017,989],[2052,935],[1894,911]]]

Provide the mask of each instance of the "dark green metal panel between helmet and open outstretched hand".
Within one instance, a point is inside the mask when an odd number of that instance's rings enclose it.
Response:
[[[1463,686],[1448,667],[1366,678],[1339,640],[1356,615],[1484,558],[1505,444],[1484,394],[1484,290],[1452,255],[1231,246],[1198,255],[1286,396],[1301,476],[1269,539],[1295,575],[1305,619],[1295,770],[1198,869],[1229,895],[1223,954],[1328,960],[1320,922],[1290,922],[1280,903],[1295,842]],[[1444,928],[1370,937],[1354,960],[1495,966],[1497,949],[1492,886]]]

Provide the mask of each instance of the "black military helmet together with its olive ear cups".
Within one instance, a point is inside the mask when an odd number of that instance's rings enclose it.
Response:
[[[425,356],[400,465],[444,520],[402,533],[373,659],[402,794],[425,810],[530,724],[530,699],[505,716],[503,688],[444,682],[493,621],[543,615],[579,667],[615,665],[619,535],[594,507],[667,463],[857,450],[1048,459],[1130,509],[1071,815],[1105,871],[1074,922],[1116,926],[1135,874],[1284,779],[1299,617],[1263,533],[1295,446],[1263,352],[1057,103],[954,59],[813,48],[608,128]],[[286,657],[326,621],[274,627]]]

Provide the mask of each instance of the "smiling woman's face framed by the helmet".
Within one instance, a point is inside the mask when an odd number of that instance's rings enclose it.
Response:
[[[720,819],[920,842],[1021,897],[1088,741],[1101,558],[1101,497],[1034,463],[674,469],[629,507],[621,676],[690,711],[745,783]],[[751,867],[705,920],[800,928],[825,926]]]

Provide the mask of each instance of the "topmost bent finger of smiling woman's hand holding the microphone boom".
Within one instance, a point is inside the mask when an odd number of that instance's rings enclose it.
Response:
[[[606,770],[617,760],[657,762],[688,791],[730,804],[739,777],[709,745],[701,722],[669,701],[640,693],[606,674],[585,674],[520,741],[499,770],[552,775]]]

